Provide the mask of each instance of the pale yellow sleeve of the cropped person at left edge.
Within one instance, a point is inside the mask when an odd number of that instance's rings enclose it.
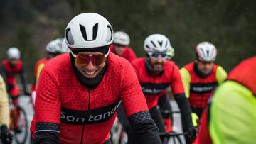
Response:
[[[6,84],[4,83],[4,79],[0,75],[0,126],[6,125],[7,127],[9,127],[9,124],[9,102],[6,92]]]

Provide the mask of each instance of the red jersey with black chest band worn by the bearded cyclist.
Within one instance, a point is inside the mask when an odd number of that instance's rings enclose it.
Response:
[[[134,66],[134,70],[137,73],[139,84],[141,84],[149,109],[157,105],[159,96],[166,93],[166,88],[169,85],[171,85],[174,95],[184,93],[181,74],[174,62],[166,60],[164,71],[159,77],[149,75],[146,70],[145,58],[138,58],[132,61],[132,66]]]

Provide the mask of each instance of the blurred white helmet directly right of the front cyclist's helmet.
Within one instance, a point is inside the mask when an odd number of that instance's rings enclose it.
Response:
[[[113,43],[119,44],[119,45],[129,45],[129,35],[127,33],[124,33],[123,31],[116,31],[114,32],[114,40]]]

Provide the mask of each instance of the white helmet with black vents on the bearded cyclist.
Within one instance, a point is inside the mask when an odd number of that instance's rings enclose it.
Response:
[[[149,35],[144,40],[144,50],[149,53],[166,53],[170,47],[170,41],[161,34]]]

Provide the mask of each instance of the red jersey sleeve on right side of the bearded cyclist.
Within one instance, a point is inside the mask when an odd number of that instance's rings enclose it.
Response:
[[[172,73],[172,79],[171,79],[171,90],[176,94],[183,94],[184,93],[184,87],[181,80],[181,74],[179,72],[178,66],[174,65],[174,70]]]

